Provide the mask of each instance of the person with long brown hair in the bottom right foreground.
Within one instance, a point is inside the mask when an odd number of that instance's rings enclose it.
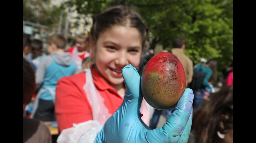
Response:
[[[188,143],[233,143],[233,86],[223,86],[193,113]]]

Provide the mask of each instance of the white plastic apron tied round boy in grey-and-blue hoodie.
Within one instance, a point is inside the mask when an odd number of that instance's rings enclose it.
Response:
[[[55,104],[55,87],[47,87],[47,86],[42,86],[42,88],[39,90],[39,92],[37,93],[36,95],[36,99],[35,99],[35,102],[34,102],[34,106],[33,106],[33,111],[31,113],[31,118],[34,117],[34,114],[36,113],[37,111],[37,108],[38,108],[38,104],[39,104],[39,99],[40,99],[40,96],[46,92],[46,91],[49,91],[51,96],[53,97],[53,104]]]

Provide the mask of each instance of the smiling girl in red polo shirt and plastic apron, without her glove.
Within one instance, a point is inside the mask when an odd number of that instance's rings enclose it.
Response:
[[[94,18],[90,45],[95,64],[83,73],[61,78],[56,86],[55,113],[59,131],[89,120],[104,124],[122,104],[122,69],[137,68],[146,40],[146,26],[138,13],[112,6]],[[143,99],[142,120],[149,125],[153,108]]]

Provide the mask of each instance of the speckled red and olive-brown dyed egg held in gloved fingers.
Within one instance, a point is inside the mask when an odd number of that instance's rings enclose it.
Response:
[[[154,55],[141,76],[141,92],[149,105],[166,110],[175,106],[186,88],[186,77],[179,59],[169,52]]]

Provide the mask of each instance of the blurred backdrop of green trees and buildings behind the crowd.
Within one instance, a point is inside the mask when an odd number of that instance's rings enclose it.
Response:
[[[173,39],[183,37],[184,53],[194,65],[215,58],[215,87],[222,86],[222,70],[233,60],[232,0],[23,0],[23,33],[31,39],[64,35],[67,48],[75,37],[90,32],[92,17],[110,5],[123,4],[137,11],[148,26],[154,54],[172,49]]]

